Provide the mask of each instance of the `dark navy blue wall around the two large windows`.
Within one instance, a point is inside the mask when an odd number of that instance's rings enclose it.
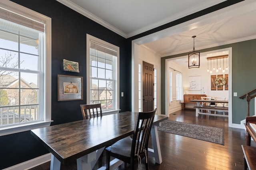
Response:
[[[51,125],[82,119],[80,104],[86,104],[86,33],[120,47],[121,111],[131,110],[131,57],[127,55],[127,39],[78,14],[55,0],[12,0],[52,18],[52,122]],[[65,72],[62,60],[79,62],[80,73]],[[82,76],[84,100],[58,102],[57,75]],[[0,137],[0,169],[19,164],[48,153],[30,131]]]

